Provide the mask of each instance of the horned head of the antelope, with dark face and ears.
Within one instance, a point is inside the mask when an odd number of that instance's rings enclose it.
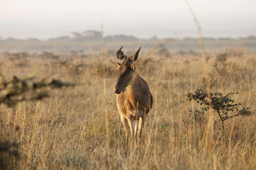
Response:
[[[118,51],[116,51],[116,57],[120,60],[123,60],[123,62],[120,64],[110,60],[112,64],[118,68],[118,78],[114,87],[114,93],[116,94],[120,94],[123,89],[132,84],[132,78],[135,73],[135,65],[132,62],[138,58],[141,47],[136,51],[134,55],[130,56],[129,58],[124,55],[123,51],[121,51],[122,48],[123,46]]]

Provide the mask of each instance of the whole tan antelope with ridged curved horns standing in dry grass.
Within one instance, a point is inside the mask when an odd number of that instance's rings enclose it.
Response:
[[[125,128],[127,145],[129,127],[132,142],[136,134],[139,142],[146,116],[153,105],[153,97],[147,82],[139,76],[135,65],[132,63],[138,58],[141,47],[129,58],[121,51],[122,48],[123,46],[116,52],[116,57],[123,60],[123,62],[110,61],[118,68],[118,78],[114,87],[114,93],[117,94],[117,108]]]

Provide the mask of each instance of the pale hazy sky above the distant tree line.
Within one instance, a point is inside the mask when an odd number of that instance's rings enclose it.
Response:
[[[188,0],[203,36],[256,36],[256,0]],[[47,39],[71,32],[100,30],[104,35],[139,38],[196,36],[184,0],[0,0],[0,37]]]

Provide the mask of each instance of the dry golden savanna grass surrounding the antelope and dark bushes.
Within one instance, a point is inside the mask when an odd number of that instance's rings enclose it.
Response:
[[[126,55],[135,50],[127,51]],[[256,115],[226,120],[222,134],[217,115],[214,130],[208,116],[198,123],[187,95],[205,87],[200,53],[163,47],[143,50],[134,62],[148,83],[154,104],[142,130],[142,141],[126,147],[125,132],[113,88],[118,71],[113,52],[11,53],[0,56],[6,80],[35,76],[60,79],[74,87],[52,89],[39,101],[1,105],[0,142],[4,169],[255,169]],[[104,94],[103,63],[106,69]],[[211,91],[238,92],[232,98],[256,111],[256,54],[242,48],[207,53]],[[24,94],[27,95],[27,94]],[[205,112],[210,114],[210,111]],[[17,143],[11,145],[11,143]]]

